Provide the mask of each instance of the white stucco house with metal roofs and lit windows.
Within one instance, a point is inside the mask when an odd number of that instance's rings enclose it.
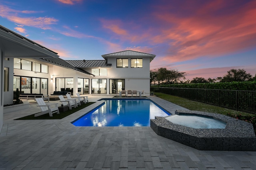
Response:
[[[4,105],[21,93],[118,94],[121,90],[150,95],[150,62],[156,55],[121,51],[103,60],[63,60],[58,54],[0,25],[0,131]]]

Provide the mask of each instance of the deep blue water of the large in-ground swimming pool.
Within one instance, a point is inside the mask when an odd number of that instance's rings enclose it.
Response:
[[[72,122],[75,126],[150,126],[155,116],[170,115],[151,100],[105,100],[105,103]]]

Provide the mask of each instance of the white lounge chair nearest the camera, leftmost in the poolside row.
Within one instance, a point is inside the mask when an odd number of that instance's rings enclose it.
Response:
[[[52,117],[52,113],[60,114],[58,104],[52,103],[52,104],[45,104],[43,98],[36,98],[36,102],[38,103],[38,107],[42,110],[40,113],[36,113],[35,117],[44,115],[45,113],[49,113],[50,117]],[[51,108],[51,105],[55,105],[55,107]]]

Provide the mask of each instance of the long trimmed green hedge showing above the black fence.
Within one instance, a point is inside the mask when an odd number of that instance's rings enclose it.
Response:
[[[256,91],[256,81],[253,82],[216,82],[216,83],[197,83],[197,84],[166,84],[160,87],[171,88],[200,88],[200,89],[219,89],[219,90],[248,90]]]

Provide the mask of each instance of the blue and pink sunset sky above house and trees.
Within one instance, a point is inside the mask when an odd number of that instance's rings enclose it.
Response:
[[[0,25],[64,60],[134,50],[189,80],[256,73],[256,0],[1,0]]]

